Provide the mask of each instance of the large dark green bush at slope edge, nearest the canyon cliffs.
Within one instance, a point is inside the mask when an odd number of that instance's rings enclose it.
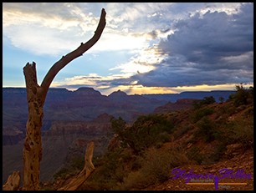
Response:
[[[136,155],[147,148],[170,140],[173,124],[161,114],[140,116],[128,127],[122,119],[112,120],[112,130],[118,135],[123,147],[130,147]]]

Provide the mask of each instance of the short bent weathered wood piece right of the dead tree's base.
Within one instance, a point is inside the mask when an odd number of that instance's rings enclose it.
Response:
[[[64,187],[61,187],[58,190],[77,190],[80,185],[84,184],[84,181],[87,180],[95,170],[95,165],[92,163],[94,148],[94,142],[90,141],[89,145],[87,145],[84,155],[84,169],[81,170],[78,175],[75,175],[69,184],[64,185]]]

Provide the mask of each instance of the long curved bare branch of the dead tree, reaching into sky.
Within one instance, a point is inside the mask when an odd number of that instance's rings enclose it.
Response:
[[[105,9],[102,8],[100,14],[100,22],[98,27],[95,31],[95,35],[90,38],[90,40],[86,43],[81,43],[79,48],[75,49],[73,52],[68,53],[64,57],[62,57],[58,62],[54,63],[51,69],[49,69],[48,74],[44,77],[44,80],[41,84],[41,88],[44,89],[45,94],[49,89],[49,85],[54,80],[56,74],[58,74],[59,70],[63,69],[69,62],[71,62],[74,58],[78,58],[79,56],[83,55],[88,49],[90,49],[99,39],[103,29],[105,28]]]

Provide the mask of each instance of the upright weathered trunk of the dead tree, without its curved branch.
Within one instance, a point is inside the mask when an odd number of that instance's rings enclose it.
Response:
[[[26,79],[28,101],[27,133],[23,147],[23,190],[39,190],[44,97],[37,83],[35,63],[32,65],[27,63],[23,73]]]

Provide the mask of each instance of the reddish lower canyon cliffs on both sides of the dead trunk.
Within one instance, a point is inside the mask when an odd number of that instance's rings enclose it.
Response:
[[[107,150],[112,133],[109,114],[100,114],[91,121],[54,121],[43,132],[43,160],[40,180],[51,180],[54,173],[74,155],[84,157],[90,140],[95,142],[94,155]],[[3,145],[3,182],[13,170],[23,170],[23,140],[16,145]]]

